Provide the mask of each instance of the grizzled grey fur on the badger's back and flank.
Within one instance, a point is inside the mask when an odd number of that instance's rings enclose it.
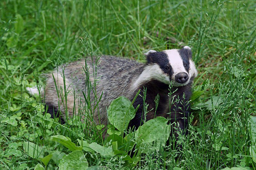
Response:
[[[94,59],[95,60],[95,59]],[[93,65],[95,61],[87,60],[89,67],[90,81],[93,84]],[[69,91],[67,97],[67,106],[68,106],[68,115],[72,117],[73,115],[73,106],[74,106],[74,92],[73,88],[76,89],[76,109],[79,105],[79,98],[84,102],[84,96],[82,91],[86,86],[85,75],[83,67],[85,65],[85,60],[80,62],[73,62],[68,64],[65,67],[65,78],[66,78],[66,88]],[[94,121],[96,124],[105,124],[108,123],[106,107],[108,107],[112,100],[116,99],[119,96],[127,97],[129,100],[132,100],[134,97],[135,89],[132,89],[133,81],[140,75],[143,71],[144,64],[138,63],[134,60],[107,56],[103,55],[100,57],[100,63],[97,68],[97,77],[100,81],[97,82],[97,96],[100,97],[101,92],[103,92],[100,103],[98,104],[100,120],[98,113],[94,114]],[[59,89],[64,88],[62,70],[53,72],[56,83],[59,84]],[[54,108],[60,109],[60,111],[65,113],[65,103],[63,104],[61,99],[58,99],[56,92],[56,87],[52,74],[49,74],[48,80],[45,87],[45,103],[48,105],[53,105]],[[91,101],[94,100],[94,94],[91,93]],[[60,108],[58,108],[58,101],[60,103]],[[83,105],[81,103],[81,105]],[[93,106],[92,106],[93,107]]]

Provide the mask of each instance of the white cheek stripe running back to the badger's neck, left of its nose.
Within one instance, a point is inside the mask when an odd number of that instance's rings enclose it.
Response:
[[[158,64],[153,64],[144,68],[140,76],[133,83],[133,87],[138,88],[141,84],[153,79],[165,84],[170,84],[170,77],[167,74],[164,74]]]

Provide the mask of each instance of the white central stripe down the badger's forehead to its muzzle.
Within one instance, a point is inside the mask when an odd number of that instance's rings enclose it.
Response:
[[[180,72],[185,72],[188,74],[185,67],[183,66],[183,60],[180,57],[180,53],[178,52],[177,49],[168,49],[168,50],[164,50],[164,51],[168,55],[169,63],[172,67],[172,71],[173,71],[172,81],[175,81],[175,75]],[[190,76],[189,76],[189,78],[190,78]]]

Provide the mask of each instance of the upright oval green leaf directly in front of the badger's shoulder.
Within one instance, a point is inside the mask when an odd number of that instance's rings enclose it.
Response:
[[[127,98],[120,96],[113,100],[108,108],[108,120],[116,129],[123,132],[135,116],[135,109],[132,102]]]

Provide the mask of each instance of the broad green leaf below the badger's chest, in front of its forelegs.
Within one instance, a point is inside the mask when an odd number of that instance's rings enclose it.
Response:
[[[140,126],[135,133],[137,144],[153,142],[160,138],[165,140],[166,136],[170,135],[170,128],[166,126],[166,123],[167,119],[159,116]]]

